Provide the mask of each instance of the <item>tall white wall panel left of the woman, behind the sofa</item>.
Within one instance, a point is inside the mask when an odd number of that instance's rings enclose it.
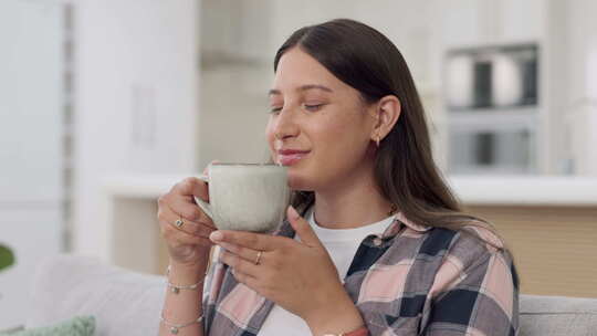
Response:
[[[197,171],[199,9],[81,0],[75,10],[73,245],[109,260],[104,177]]]

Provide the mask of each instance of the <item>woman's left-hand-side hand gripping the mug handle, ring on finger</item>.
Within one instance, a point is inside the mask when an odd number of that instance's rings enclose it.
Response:
[[[161,237],[168,246],[170,264],[176,266],[207,265],[212,246],[209,234],[216,228],[193,196],[209,201],[207,183],[189,177],[158,199]],[[182,221],[181,225],[177,225],[178,220]]]

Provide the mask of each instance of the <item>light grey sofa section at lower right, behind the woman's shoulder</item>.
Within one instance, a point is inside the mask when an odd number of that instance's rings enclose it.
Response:
[[[521,295],[520,336],[597,335],[597,298]]]

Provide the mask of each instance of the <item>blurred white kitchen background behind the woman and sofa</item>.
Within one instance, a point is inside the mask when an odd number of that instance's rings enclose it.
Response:
[[[364,21],[405,55],[437,162],[492,220],[522,292],[597,297],[593,0],[0,0],[0,328],[36,262],[161,274],[156,199],[213,159],[266,157],[273,55]]]

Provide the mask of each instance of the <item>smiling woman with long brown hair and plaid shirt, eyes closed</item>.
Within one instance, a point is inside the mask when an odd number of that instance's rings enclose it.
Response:
[[[442,181],[396,46],[334,20],[294,32],[274,72],[266,136],[289,169],[286,219],[274,235],[213,231],[192,199],[203,182],[163,196],[160,335],[515,335],[512,258]]]

